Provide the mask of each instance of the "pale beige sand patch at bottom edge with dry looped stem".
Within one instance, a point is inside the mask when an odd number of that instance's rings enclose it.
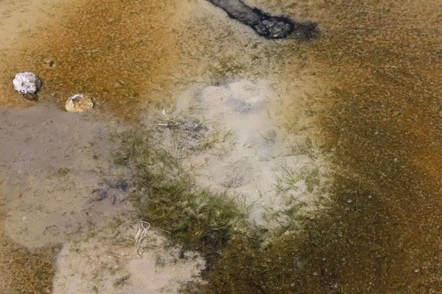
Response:
[[[54,293],[174,294],[186,282],[195,281],[204,260],[191,252],[180,256],[179,248],[167,246],[166,238],[152,230],[143,239],[138,257],[133,247],[135,230],[128,221],[111,221],[96,235],[64,245]]]

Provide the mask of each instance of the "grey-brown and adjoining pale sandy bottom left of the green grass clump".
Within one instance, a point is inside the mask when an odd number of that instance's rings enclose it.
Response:
[[[179,258],[179,248],[154,231],[140,245],[141,258],[135,252],[138,220],[130,217],[124,181],[130,174],[109,154],[116,145],[108,128],[121,129],[116,121],[95,123],[43,105],[2,109],[0,118],[2,238],[35,250],[64,244],[52,293],[174,293],[199,274],[200,258]],[[2,258],[11,249],[2,246]]]

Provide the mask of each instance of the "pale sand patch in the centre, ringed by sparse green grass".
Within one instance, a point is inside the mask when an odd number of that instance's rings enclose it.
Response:
[[[271,216],[282,221],[279,213],[327,196],[328,162],[304,133],[287,135],[278,107],[264,82],[193,89],[165,113],[169,127],[180,130],[166,129],[165,147],[198,167],[201,185],[244,197],[257,224],[268,225]]]

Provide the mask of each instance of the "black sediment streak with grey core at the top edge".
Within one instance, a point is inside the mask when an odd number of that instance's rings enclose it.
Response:
[[[227,15],[251,27],[258,35],[267,39],[284,39],[291,34],[306,39],[316,39],[318,24],[294,22],[284,16],[273,16],[258,8],[251,8],[241,0],[208,0],[224,10]]]

